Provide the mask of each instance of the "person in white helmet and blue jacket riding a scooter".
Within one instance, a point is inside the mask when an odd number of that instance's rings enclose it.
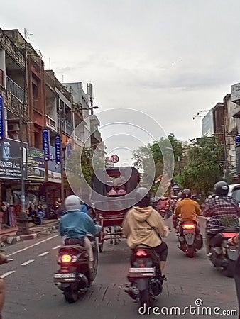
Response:
[[[81,199],[78,196],[68,196],[65,199],[65,208],[67,214],[60,219],[60,236],[65,236],[65,243],[69,238],[84,239],[85,249],[89,254],[89,268],[92,269],[94,258],[87,234],[97,235],[102,227],[95,225],[92,218],[81,211]]]

